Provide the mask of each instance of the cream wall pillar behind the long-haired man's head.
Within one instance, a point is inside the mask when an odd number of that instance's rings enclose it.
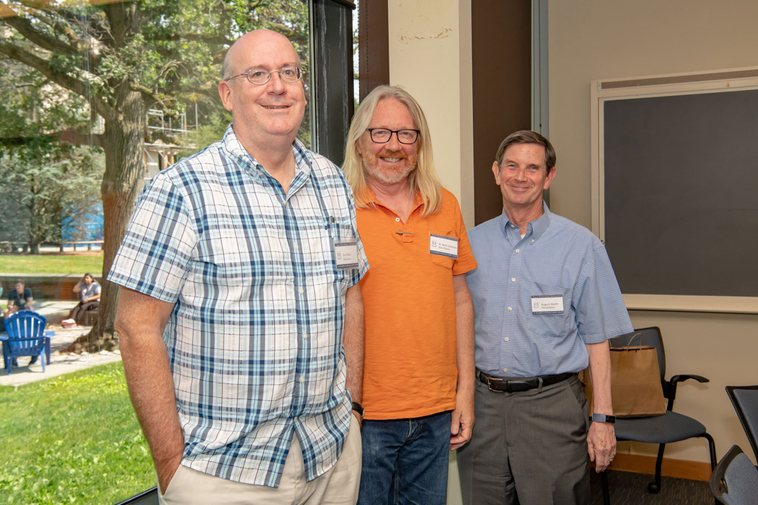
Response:
[[[471,0],[390,0],[390,84],[424,109],[434,164],[474,226]]]

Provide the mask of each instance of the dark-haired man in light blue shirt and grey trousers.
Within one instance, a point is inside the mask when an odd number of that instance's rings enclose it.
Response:
[[[493,163],[503,214],[469,232],[477,388],[471,441],[459,449],[467,505],[589,501],[589,463],[615,455],[607,340],[631,332],[600,240],[552,214],[553,146],[508,136]],[[577,373],[590,365],[595,412]]]

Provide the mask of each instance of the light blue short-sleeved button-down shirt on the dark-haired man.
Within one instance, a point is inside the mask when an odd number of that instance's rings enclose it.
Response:
[[[545,214],[524,238],[505,212],[468,232],[478,268],[466,274],[474,299],[476,366],[532,377],[587,368],[585,344],[632,331],[602,242],[564,217]],[[533,297],[561,299],[561,313],[533,312]]]

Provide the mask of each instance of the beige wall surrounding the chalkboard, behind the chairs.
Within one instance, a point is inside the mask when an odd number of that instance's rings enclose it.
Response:
[[[550,140],[558,153],[551,207],[590,227],[590,80],[758,66],[758,2],[575,0],[549,9]],[[687,167],[672,170],[686,176]],[[758,384],[758,315],[633,311],[631,319],[662,329],[667,375],[711,380],[681,384],[675,410],[703,422],[719,457],[732,444],[751,453],[724,386]],[[621,449],[653,454],[649,444]],[[666,455],[708,460],[704,440],[670,444]]]

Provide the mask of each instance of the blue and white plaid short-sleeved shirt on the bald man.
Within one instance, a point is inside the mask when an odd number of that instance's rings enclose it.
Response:
[[[345,293],[368,270],[343,173],[300,142],[293,153],[285,195],[229,126],[149,182],[109,276],[176,304],[163,338],[182,464],[271,487],[294,432],[308,480],[340,457]],[[344,238],[358,238],[357,269],[336,267]]]

